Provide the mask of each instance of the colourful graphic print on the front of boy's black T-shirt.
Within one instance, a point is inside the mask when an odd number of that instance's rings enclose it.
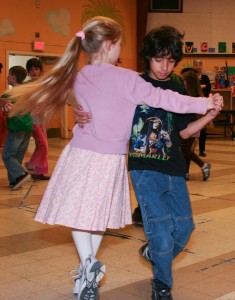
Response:
[[[137,107],[129,157],[168,160],[171,157],[172,114],[147,105]]]

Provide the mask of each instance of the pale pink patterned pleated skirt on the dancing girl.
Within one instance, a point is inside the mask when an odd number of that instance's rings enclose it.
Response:
[[[67,145],[35,220],[87,231],[131,224],[125,155],[101,154]]]

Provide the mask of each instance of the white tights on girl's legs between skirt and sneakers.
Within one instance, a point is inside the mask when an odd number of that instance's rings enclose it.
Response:
[[[90,254],[96,256],[103,236],[104,232],[72,230],[73,241],[82,266],[85,265],[85,261]]]

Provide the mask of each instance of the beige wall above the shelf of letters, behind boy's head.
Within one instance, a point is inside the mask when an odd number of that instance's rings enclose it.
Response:
[[[171,25],[185,32],[185,42],[194,42],[200,53],[201,42],[218,51],[218,42],[227,42],[229,53],[235,42],[235,0],[183,0],[183,13],[149,13],[147,32]]]

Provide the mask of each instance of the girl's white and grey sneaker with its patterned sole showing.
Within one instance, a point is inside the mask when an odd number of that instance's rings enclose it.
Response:
[[[106,266],[92,255],[86,259],[82,272],[81,288],[78,294],[79,300],[97,300],[98,285],[103,278]]]

